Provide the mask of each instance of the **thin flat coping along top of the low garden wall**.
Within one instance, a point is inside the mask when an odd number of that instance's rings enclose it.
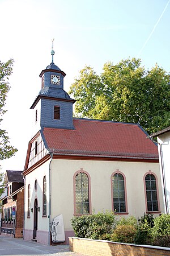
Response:
[[[69,237],[69,238],[73,238],[73,239],[77,239],[77,240],[104,242],[104,243],[117,243],[117,244],[121,244],[121,245],[130,245],[130,246],[134,246],[134,247],[146,247],[146,248],[151,248],[151,249],[170,251],[170,247],[161,247],[161,246],[154,246],[154,245],[135,245],[134,243],[120,243],[120,242],[112,242],[109,240],[95,240],[95,239],[83,238],[83,237]]]

